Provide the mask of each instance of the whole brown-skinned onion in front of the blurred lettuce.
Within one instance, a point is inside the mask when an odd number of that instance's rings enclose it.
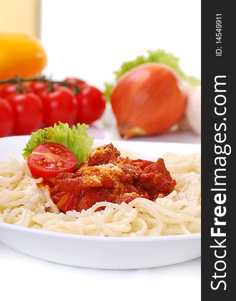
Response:
[[[167,131],[184,114],[186,96],[169,67],[146,63],[118,80],[111,106],[119,134],[127,139]]]

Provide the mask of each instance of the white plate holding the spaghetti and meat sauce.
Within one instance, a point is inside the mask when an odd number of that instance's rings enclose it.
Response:
[[[29,136],[0,138],[0,161],[20,154]],[[101,145],[110,141],[95,140]],[[199,144],[113,141],[142,158],[157,159],[164,152],[200,153]],[[145,156],[143,155],[145,154]],[[0,223],[0,241],[23,253],[74,266],[132,269],[156,267],[200,256],[200,233],[162,237],[92,237],[55,233]]]

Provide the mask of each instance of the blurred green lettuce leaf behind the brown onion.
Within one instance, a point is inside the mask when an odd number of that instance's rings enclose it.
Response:
[[[133,61],[124,62],[117,71],[113,72],[115,76],[115,81],[111,83],[104,83],[104,95],[106,97],[106,100],[110,101],[110,94],[115,83],[125,72],[129,71],[133,67],[150,62],[168,65],[169,67],[174,69],[183,80],[185,80],[193,86],[200,84],[200,80],[198,78],[188,76],[182,71],[182,69],[179,66],[179,58],[175,57],[171,53],[167,53],[163,49],[157,49],[153,51],[148,50],[145,55],[138,56]]]

